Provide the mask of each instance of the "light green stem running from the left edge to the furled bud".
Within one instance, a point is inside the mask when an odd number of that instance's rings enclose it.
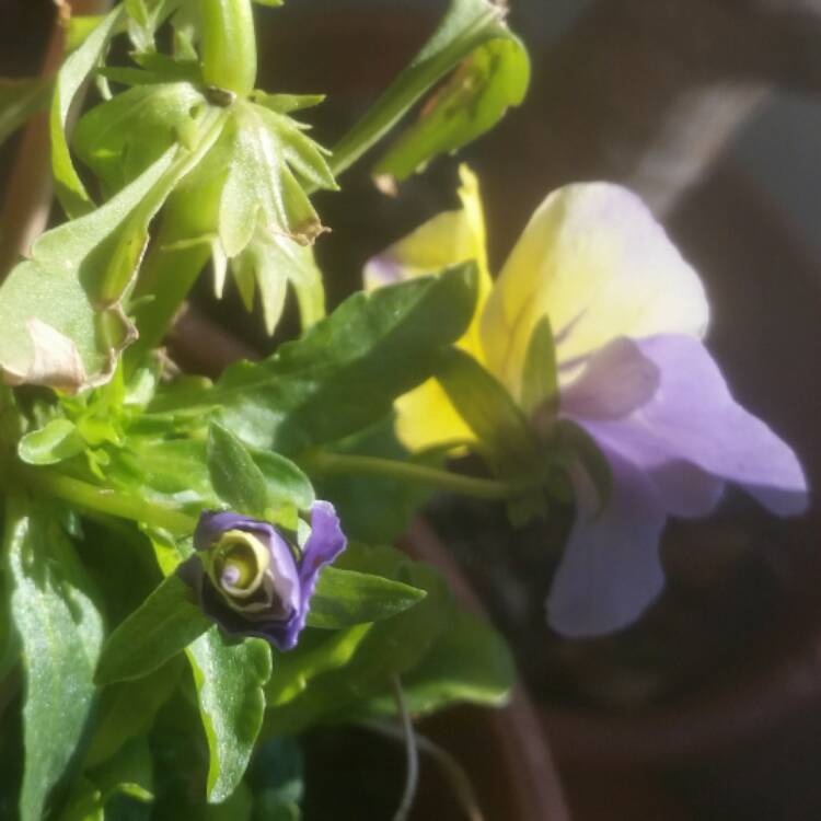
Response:
[[[71,502],[78,508],[130,519],[174,533],[193,533],[197,525],[196,519],[186,513],[58,473],[26,471],[25,483],[33,489]]]

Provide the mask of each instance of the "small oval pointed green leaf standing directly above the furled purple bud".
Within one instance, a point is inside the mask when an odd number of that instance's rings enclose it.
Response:
[[[213,489],[229,507],[264,518],[268,507],[265,476],[242,442],[217,424],[208,432],[208,471]]]

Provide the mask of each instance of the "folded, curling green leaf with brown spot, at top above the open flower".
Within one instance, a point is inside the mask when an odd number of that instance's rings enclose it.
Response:
[[[469,58],[473,62],[456,72],[420,123],[380,163],[384,171],[401,176],[409,167],[405,175],[412,173],[436,153],[459,148],[478,136],[508,105],[521,102],[529,82],[528,56],[505,25],[504,16],[501,3],[492,0],[451,0],[433,36],[334,147],[334,174],[356,162],[428,89]],[[476,85],[466,84],[465,79]]]

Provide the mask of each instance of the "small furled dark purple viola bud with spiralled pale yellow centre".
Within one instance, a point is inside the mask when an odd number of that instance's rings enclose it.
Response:
[[[300,551],[274,524],[205,510],[194,533],[197,555],[184,576],[205,613],[231,635],[264,638],[290,650],[305,626],[320,570],[346,546],[333,505],[311,508],[311,535]]]

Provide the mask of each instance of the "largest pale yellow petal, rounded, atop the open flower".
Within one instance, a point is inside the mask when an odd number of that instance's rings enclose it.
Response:
[[[533,328],[547,315],[559,365],[617,336],[704,335],[698,275],[641,200],[605,183],[551,194],[531,218],[482,317],[489,369],[519,395]]]

